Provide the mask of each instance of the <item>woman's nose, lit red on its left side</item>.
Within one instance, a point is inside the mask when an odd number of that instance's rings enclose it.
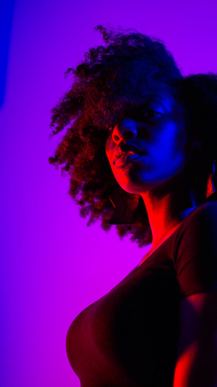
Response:
[[[114,142],[119,142],[123,139],[135,139],[137,136],[137,129],[135,121],[130,118],[123,118],[114,127],[112,138]]]

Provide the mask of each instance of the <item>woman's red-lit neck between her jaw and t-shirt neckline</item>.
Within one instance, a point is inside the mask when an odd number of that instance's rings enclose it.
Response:
[[[152,248],[164,236],[168,236],[193,209],[205,202],[207,192],[213,192],[211,178],[210,175],[205,184],[202,184],[200,179],[200,186],[193,186],[190,189],[191,185],[187,174],[182,171],[169,182],[140,193],[151,227]]]

